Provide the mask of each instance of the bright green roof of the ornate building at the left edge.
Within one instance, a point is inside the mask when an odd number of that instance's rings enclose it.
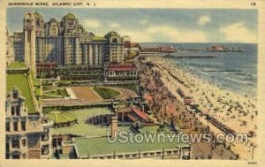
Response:
[[[25,98],[25,105],[27,106],[28,113],[34,113],[33,97],[30,93],[29,83],[27,82],[27,76],[24,74],[9,73],[6,75],[6,94],[11,92],[11,89],[15,87],[19,89],[20,94]]]

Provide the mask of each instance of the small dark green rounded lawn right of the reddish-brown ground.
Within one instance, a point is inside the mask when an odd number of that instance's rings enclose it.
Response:
[[[120,93],[117,90],[107,87],[93,87],[95,92],[103,99],[115,99]]]

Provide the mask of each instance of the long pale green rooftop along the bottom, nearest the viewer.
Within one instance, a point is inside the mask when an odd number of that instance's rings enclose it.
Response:
[[[142,135],[142,134],[137,134]],[[135,139],[135,138],[133,138]],[[145,139],[145,138],[143,138]],[[165,137],[163,140],[157,140],[154,142],[117,142],[110,143],[106,137],[100,138],[75,138],[75,144],[80,157],[89,156],[113,156],[114,154],[128,154],[139,153],[145,151],[157,151],[163,149],[173,149],[179,146],[189,146],[186,143],[179,143],[178,138],[174,138],[173,142]]]

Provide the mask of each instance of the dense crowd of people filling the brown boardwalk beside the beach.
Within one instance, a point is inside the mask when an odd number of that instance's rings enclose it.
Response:
[[[148,104],[159,122],[173,123],[183,133],[211,133],[193,112],[187,112],[184,103],[163,86],[161,73],[148,65],[140,66],[140,86],[153,97]],[[237,159],[239,155],[230,150],[229,145],[205,142],[193,143],[192,159]]]

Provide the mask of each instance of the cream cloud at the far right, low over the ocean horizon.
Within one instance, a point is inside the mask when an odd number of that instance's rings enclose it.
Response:
[[[257,42],[257,34],[247,29],[243,22],[223,27],[220,33],[225,42]]]

